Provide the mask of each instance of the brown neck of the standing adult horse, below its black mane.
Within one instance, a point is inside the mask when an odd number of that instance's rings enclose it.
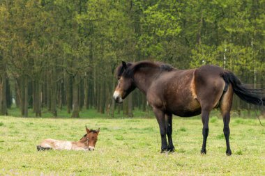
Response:
[[[151,83],[157,79],[161,71],[158,68],[151,68],[149,70],[140,70],[135,73],[135,86],[139,88],[144,94],[151,86]]]

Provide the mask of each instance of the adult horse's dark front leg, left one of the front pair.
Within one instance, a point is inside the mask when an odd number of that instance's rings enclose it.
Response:
[[[160,129],[160,135],[161,135],[161,153],[167,151],[167,129],[166,129],[166,123],[165,123],[165,113],[161,111],[160,109],[153,108],[153,112],[156,115],[156,120],[158,120],[158,125]]]

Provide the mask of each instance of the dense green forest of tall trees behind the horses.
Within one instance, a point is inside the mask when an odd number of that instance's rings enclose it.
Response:
[[[1,0],[0,114],[146,111],[139,90],[113,102],[121,61],[219,65],[265,88],[264,9],[264,0]],[[260,109],[234,97],[234,111]]]

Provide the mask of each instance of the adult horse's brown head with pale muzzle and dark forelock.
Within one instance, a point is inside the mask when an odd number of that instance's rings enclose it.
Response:
[[[133,83],[133,71],[130,69],[131,65],[132,63],[122,62],[122,64],[116,68],[118,85],[115,88],[113,99],[117,103],[122,103],[123,99],[135,89],[135,84]]]

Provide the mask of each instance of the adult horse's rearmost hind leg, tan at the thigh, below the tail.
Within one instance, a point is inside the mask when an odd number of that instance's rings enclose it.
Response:
[[[225,135],[225,142],[227,143],[227,151],[226,154],[229,156],[232,154],[229,144],[229,122],[230,122],[230,111],[232,106],[232,99],[233,99],[233,90],[232,86],[229,86],[227,93],[224,94],[222,97],[222,101],[220,104],[220,109],[222,112],[222,120],[224,121],[224,135]]]

